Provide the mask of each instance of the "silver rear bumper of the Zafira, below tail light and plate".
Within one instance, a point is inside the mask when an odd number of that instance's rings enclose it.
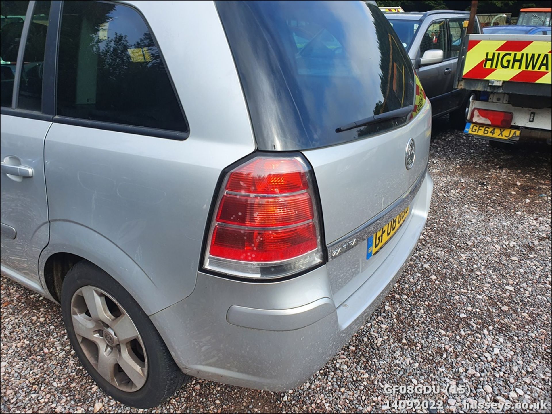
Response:
[[[427,174],[388,254],[345,299],[334,300],[326,265],[274,283],[199,272],[188,298],[151,319],[187,374],[255,389],[295,388],[335,355],[394,286],[422,233],[432,190]]]

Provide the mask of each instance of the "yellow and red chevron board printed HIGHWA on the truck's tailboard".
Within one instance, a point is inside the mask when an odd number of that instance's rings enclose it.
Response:
[[[470,36],[465,79],[551,83],[551,42],[544,40],[477,40]]]

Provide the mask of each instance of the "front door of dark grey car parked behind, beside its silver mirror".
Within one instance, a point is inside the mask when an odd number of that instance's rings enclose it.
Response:
[[[419,58],[426,50],[442,50],[446,57],[448,53],[447,21],[435,20],[429,24],[420,42]],[[418,58],[418,59],[419,59]],[[443,110],[444,94],[447,92],[448,79],[452,78],[450,62],[443,60],[440,63],[427,64],[418,68],[418,76],[426,95],[432,104],[433,115],[439,115]]]

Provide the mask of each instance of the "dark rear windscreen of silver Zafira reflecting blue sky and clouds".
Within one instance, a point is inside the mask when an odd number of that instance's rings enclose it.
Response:
[[[412,105],[415,80],[378,7],[358,2],[216,2],[265,150],[330,146],[404,125],[403,116],[336,132]]]

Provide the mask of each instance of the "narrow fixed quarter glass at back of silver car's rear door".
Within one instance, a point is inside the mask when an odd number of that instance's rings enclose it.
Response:
[[[33,10],[33,21],[29,26],[29,34],[23,53],[23,69],[19,81],[17,107],[21,109],[31,111],[42,109],[42,75],[50,3],[49,1],[38,1]]]

